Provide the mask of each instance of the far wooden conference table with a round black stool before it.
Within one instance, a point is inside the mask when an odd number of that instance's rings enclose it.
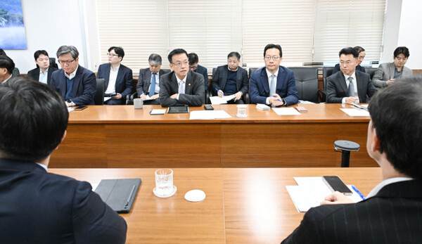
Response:
[[[236,117],[236,105],[213,105],[231,116],[216,120],[150,115],[160,105],[89,105],[69,113],[68,133],[51,155],[51,167],[340,167],[337,140],[360,145],[350,167],[377,166],[366,153],[369,116],[340,110],[350,105],[301,105],[308,111],[276,115],[249,104],[244,118]]]

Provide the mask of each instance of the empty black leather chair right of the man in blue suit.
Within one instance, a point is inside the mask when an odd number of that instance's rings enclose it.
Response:
[[[299,100],[318,103],[318,68],[289,68],[295,74]]]

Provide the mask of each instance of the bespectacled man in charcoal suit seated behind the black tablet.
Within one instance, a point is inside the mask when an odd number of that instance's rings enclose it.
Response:
[[[204,78],[189,71],[188,53],[174,49],[168,56],[172,72],[162,75],[160,103],[162,107],[174,105],[200,106],[204,103]]]

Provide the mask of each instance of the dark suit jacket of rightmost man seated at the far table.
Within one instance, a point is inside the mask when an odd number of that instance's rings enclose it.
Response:
[[[376,93],[376,88],[371,82],[369,74],[355,71],[357,94],[359,95],[359,102],[366,103]],[[336,72],[327,78],[327,103],[341,103],[342,99],[347,97],[347,84],[343,72]]]

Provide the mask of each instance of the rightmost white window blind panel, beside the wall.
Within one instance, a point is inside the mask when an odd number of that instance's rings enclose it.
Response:
[[[362,46],[365,60],[380,60],[385,0],[316,0],[315,62],[337,61],[346,46]]]

